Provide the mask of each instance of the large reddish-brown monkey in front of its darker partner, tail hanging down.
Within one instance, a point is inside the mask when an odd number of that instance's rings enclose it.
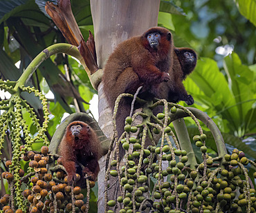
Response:
[[[174,46],[172,34],[165,28],[150,28],[138,37],[118,45],[110,55],[102,81],[107,101],[113,110],[118,95],[134,94],[143,85],[139,97],[156,97],[158,85],[170,80]],[[116,117],[118,136],[122,134],[125,118],[129,116],[131,99],[122,100]]]

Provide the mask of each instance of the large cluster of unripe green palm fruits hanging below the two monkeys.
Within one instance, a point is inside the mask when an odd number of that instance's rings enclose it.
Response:
[[[177,105],[179,107],[179,105]],[[176,113],[172,107],[170,113]],[[188,156],[181,150],[172,132],[170,117],[157,114],[162,125],[154,126],[153,132],[161,134],[161,145],[145,146],[147,124],[133,125],[134,118],[127,117],[125,133],[116,139],[116,146],[109,152],[106,173],[106,206],[108,213],[131,212],[255,212],[255,190],[250,185],[248,170],[252,163],[243,152],[234,150],[232,154],[212,158],[207,154],[206,135],[193,137],[201,151],[201,163],[188,165]],[[134,137],[131,133],[137,132]],[[170,136],[174,143],[172,143]],[[165,139],[165,140],[163,140]],[[125,150],[125,165],[118,156],[120,146]],[[175,145],[174,145],[175,144]],[[111,155],[111,154],[112,155]],[[256,172],[254,174],[256,178]],[[120,185],[117,199],[107,195],[114,183]]]

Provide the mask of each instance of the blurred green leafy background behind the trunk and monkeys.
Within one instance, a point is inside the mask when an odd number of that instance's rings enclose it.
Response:
[[[66,42],[46,15],[45,3],[40,0],[0,1],[1,79],[17,80],[24,68],[44,48],[53,43]],[[71,4],[75,19],[86,38],[89,30],[93,32],[90,1],[76,0]],[[161,1],[158,25],[172,30],[176,46],[191,47],[199,56],[196,69],[184,83],[188,93],[194,97],[192,106],[206,112],[217,123],[228,150],[239,148],[253,159],[256,154],[256,1]],[[15,66],[17,62],[20,62],[19,68]],[[64,64],[68,65],[68,72]],[[66,81],[66,73],[71,78],[70,82]],[[44,62],[29,84],[45,94],[54,94],[48,99],[50,140],[64,113],[77,110],[74,98],[81,112],[89,112],[93,106],[89,107],[80,98],[89,102],[97,93],[82,66],[75,59],[61,54]],[[79,92],[80,97],[70,92],[71,87]],[[29,94],[23,95],[40,116],[42,105],[39,99]],[[186,123],[190,134],[194,134],[190,119]],[[211,144],[208,128],[204,126],[204,129]],[[30,133],[36,134],[32,122]],[[11,156],[7,142],[1,157],[3,160]],[[40,143],[35,144],[35,150],[40,147]],[[3,162],[1,168],[4,170]],[[0,195],[4,190],[1,187]]]

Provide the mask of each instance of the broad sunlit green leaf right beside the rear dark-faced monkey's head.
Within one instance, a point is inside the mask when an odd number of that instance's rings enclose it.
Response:
[[[233,107],[235,99],[228,88],[225,77],[219,72],[217,63],[212,59],[201,58],[194,72],[190,74],[190,78],[205,95],[202,97],[203,103],[214,108],[223,119],[227,119],[233,131],[237,130],[239,115],[237,108]]]

